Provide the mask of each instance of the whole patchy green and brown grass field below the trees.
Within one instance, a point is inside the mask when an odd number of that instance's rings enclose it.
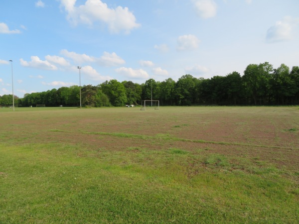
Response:
[[[299,107],[0,109],[0,223],[299,223]]]

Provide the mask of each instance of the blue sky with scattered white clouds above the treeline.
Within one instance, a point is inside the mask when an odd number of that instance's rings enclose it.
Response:
[[[0,96],[299,66],[299,0],[6,0]]]

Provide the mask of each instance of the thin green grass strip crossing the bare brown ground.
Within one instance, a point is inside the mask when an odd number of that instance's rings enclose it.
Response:
[[[108,135],[108,136],[115,136],[115,137],[123,137],[123,138],[135,138],[135,139],[154,139],[154,140],[169,140],[169,141],[182,141],[182,142],[193,142],[193,143],[204,143],[204,144],[218,144],[218,145],[236,145],[236,146],[248,146],[248,147],[258,147],[258,148],[273,148],[273,149],[288,149],[288,150],[299,150],[299,148],[294,147],[282,147],[282,146],[274,146],[274,145],[255,145],[255,144],[248,144],[248,143],[237,143],[237,142],[223,142],[223,141],[207,141],[202,139],[186,139],[186,138],[177,138],[169,136],[168,134],[157,134],[156,136],[149,136],[149,135],[141,135],[141,134],[131,134],[131,133],[109,133],[109,132],[98,132],[98,131],[68,131],[68,130],[58,130],[52,129],[49,131],[53,132],[63,132],[63,133],[76,133],[76,134],[95,134],[95,135]]]

